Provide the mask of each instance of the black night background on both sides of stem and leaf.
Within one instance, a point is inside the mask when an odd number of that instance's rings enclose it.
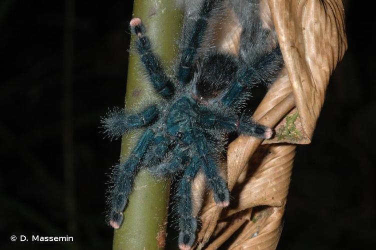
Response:
[[[76,1],[69,33],[64,1],[0,1],[0,249],[111,247],[104,192],[120,142],[98,126],[124,100],[128,2]],[[365,4],[346,1],[345,11],[349,48],[312,143],[297,147],[278,249],[376,244],[376,22]],[[13,234],[72,235],[74,245]]]

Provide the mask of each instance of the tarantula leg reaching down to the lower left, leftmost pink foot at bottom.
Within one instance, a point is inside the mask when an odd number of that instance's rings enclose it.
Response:
[[[114,171],[114,185],[110,193],[110,213],[109,224],[113,228],[119,228],[123,220],[122,211],[125,208],[128,195],[132,189],[134,175],[137,166],[145,153],[150,141],[154,137],[154,132],[148,128],[138,140],[127,160],[119,163]]]

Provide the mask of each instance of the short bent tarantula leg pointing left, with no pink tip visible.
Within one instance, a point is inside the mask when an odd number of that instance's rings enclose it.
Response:
[[[118,138],[130,129],[148,125],[158,113],[156,105],[150,105],[136,114],[127,114],[122,108],[114,108],[101,123],[108,137]]]

